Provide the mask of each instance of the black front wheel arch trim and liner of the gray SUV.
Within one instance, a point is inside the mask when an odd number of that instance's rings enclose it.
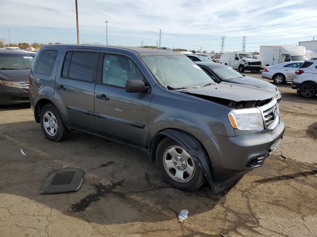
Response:
[[[162,141],[162,139],[165,137],[170,137],[171,139],[179,143],[182,147],[184,147],[187,150],[187,152],[191,155],[191,157],[194,158],[194,160],[197,162],[199,167],[202,168],[204,175],[206,179],[208,180],[209,184],[211,186],[214,186],[212,166],[211,166],[211,161],[208,156],[208,153],[206,149],[204,148],[204,145],[196,137],[191,135],[189,132],[186,132],[180,129],[174,129],[174,128],[168,128],[168,129],[159,131],[152,138],[149,158],[152,161],[155,161],[156,149],[160,141]]]

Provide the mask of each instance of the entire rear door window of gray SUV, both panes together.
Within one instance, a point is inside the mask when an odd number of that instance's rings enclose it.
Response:
[[[67,52],[62,76],[92,82],[96,55],[93,52]]]

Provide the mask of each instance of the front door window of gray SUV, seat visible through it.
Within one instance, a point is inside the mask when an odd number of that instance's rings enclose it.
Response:
[[[144,81],[142,73],[128,58],[105,54],[103,58],[102,83],[125,87],[126,80],[138,79]]]

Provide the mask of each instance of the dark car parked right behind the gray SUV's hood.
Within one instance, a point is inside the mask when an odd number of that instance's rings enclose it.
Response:
[[[239,72],[225,64],[213,62],[196,62],[196,64],[209,76],[211,76],[216,82],[231,82],[261,88],[263,90],[268,90],[275,93],[274,98],[278,102],[280,102],[282,99],[281,93],[272,83],[240,74]]]

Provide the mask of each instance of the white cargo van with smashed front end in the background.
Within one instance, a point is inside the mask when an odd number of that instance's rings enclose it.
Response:
[[[219,63],[238,69],[239,72],[261,70],[261,61],[248,52],[226,52],[220,56]]]

